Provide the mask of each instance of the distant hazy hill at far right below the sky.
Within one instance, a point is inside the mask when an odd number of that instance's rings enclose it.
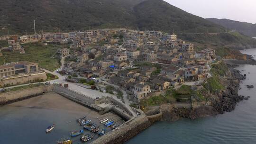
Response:
[[[237,30],[238,32],[256,37],[256,24],[247,23],[247,22],[239,22],[230,19],[217,19],[217,18],[207,18],[207,20],[214,22],[223,27],[228,27],[229,29]]]

